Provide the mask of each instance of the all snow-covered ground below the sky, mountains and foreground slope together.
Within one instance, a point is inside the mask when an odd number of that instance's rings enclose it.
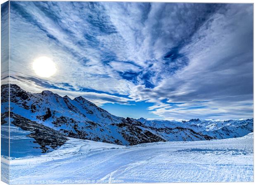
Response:
[[[83,97],[10,86],[11,184],[253,181],[253,119],[121,118]]]

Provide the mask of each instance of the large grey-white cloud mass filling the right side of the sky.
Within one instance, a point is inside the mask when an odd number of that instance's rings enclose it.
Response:
[[[245,11],[239,11],[239,6],[227,8],[227,15],[214,14],[194,34],[193,42],[183,47],[189,65],[152,90],[137,86],[130,97],[154,99],[158,104],[149,110],[169,119],[252,117],[252,11],[250,6]],[[159,97],[168,101],[162,104]],[[190,106],[168,104],[183,101]]]

